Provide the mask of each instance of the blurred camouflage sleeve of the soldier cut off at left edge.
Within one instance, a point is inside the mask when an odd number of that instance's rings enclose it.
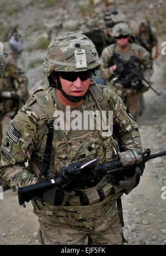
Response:
[[[10,77],[14,81],[15,91],[19,97],[28,98],[28,79],[21,68],[15,64],[8,63]]]

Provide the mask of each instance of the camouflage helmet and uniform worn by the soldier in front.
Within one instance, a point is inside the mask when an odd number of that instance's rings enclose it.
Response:
[[[87,68],[99,66],[94,44],[85,35],[64,34],[53,39],[48,47],[44,62],[44,71],[48,77],[56,70],[76,71],[77,65],[82,63],[81,57],[78,61],[73,54],[74,51],[77,52],[78,47],[80,51],[85,49]],[[79,68],[85,70],[85,66]],[[51,119],[56,121],[56,111],[61,110],[65,113],[65,106],[60,103],[56,90],[55,87],[49,87],[35,93],[11,122],[15,132],[14,139],[10,132],[6,134],[1,149],[0,171],[3,178],[15,189],[37,182],[48,135],[46,123]],[[94,99],[97,99],[99,106]],[[91,81],[86,99],[76,109],[82,113],[90,109],[96,111],[99,107],[113,112],[113,126],[116,127],[116,137],[122,150],[137,148],[141,153],[137,123],[128,115],[121,98],[112,89],[98,86]],[[75,108],[72,108],[72,111],[74,110]],[[95,121],[97,122],[97,119]],[[115,142],[112,136],[106,136],[102,132],[97,129],[55,130],[54,127],[50,168],[44,179],[58,177],[61,168],[70,163],[94,158],[97,159],[97,163],[104,163],[115,159]],[[116,193],[110,195],[111,188],[109,175],[98,180],[94,187],[76,188],[89,198],[89,205],[84,206],[81,205],[80,196],[75,195],[74,190],[70,192],[61,188],[54,189],[56,204],[51,190],[44,193],[43,203],[39,198],[32,200],[34,213],[39,217],[40,242],[66,245],[122,244],[122,225],[116,206],[116,198],[120,197],[122,192],[115,186]],[[101,202],[98,192],[105,193],[105,198]],[[60,198],[62,193],[63,197]]]

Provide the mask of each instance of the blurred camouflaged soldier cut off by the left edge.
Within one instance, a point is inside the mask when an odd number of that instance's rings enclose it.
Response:
[[[3,44],[0,43],[0,144],[6,133],[9,123],[23,106],[23,101],[17,98],[28,98],[28,80],[24,72],[8,61],[3,54]],[[8,185],[0,179],[0,185],[6,190]]]

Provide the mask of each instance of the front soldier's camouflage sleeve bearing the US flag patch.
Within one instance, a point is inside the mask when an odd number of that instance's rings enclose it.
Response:
[[[30,172],[30,159],[35,150],[35,132],[38,121],[30,107],[19,110],[1,147],[0,175],[13,189],[37,181]]]

